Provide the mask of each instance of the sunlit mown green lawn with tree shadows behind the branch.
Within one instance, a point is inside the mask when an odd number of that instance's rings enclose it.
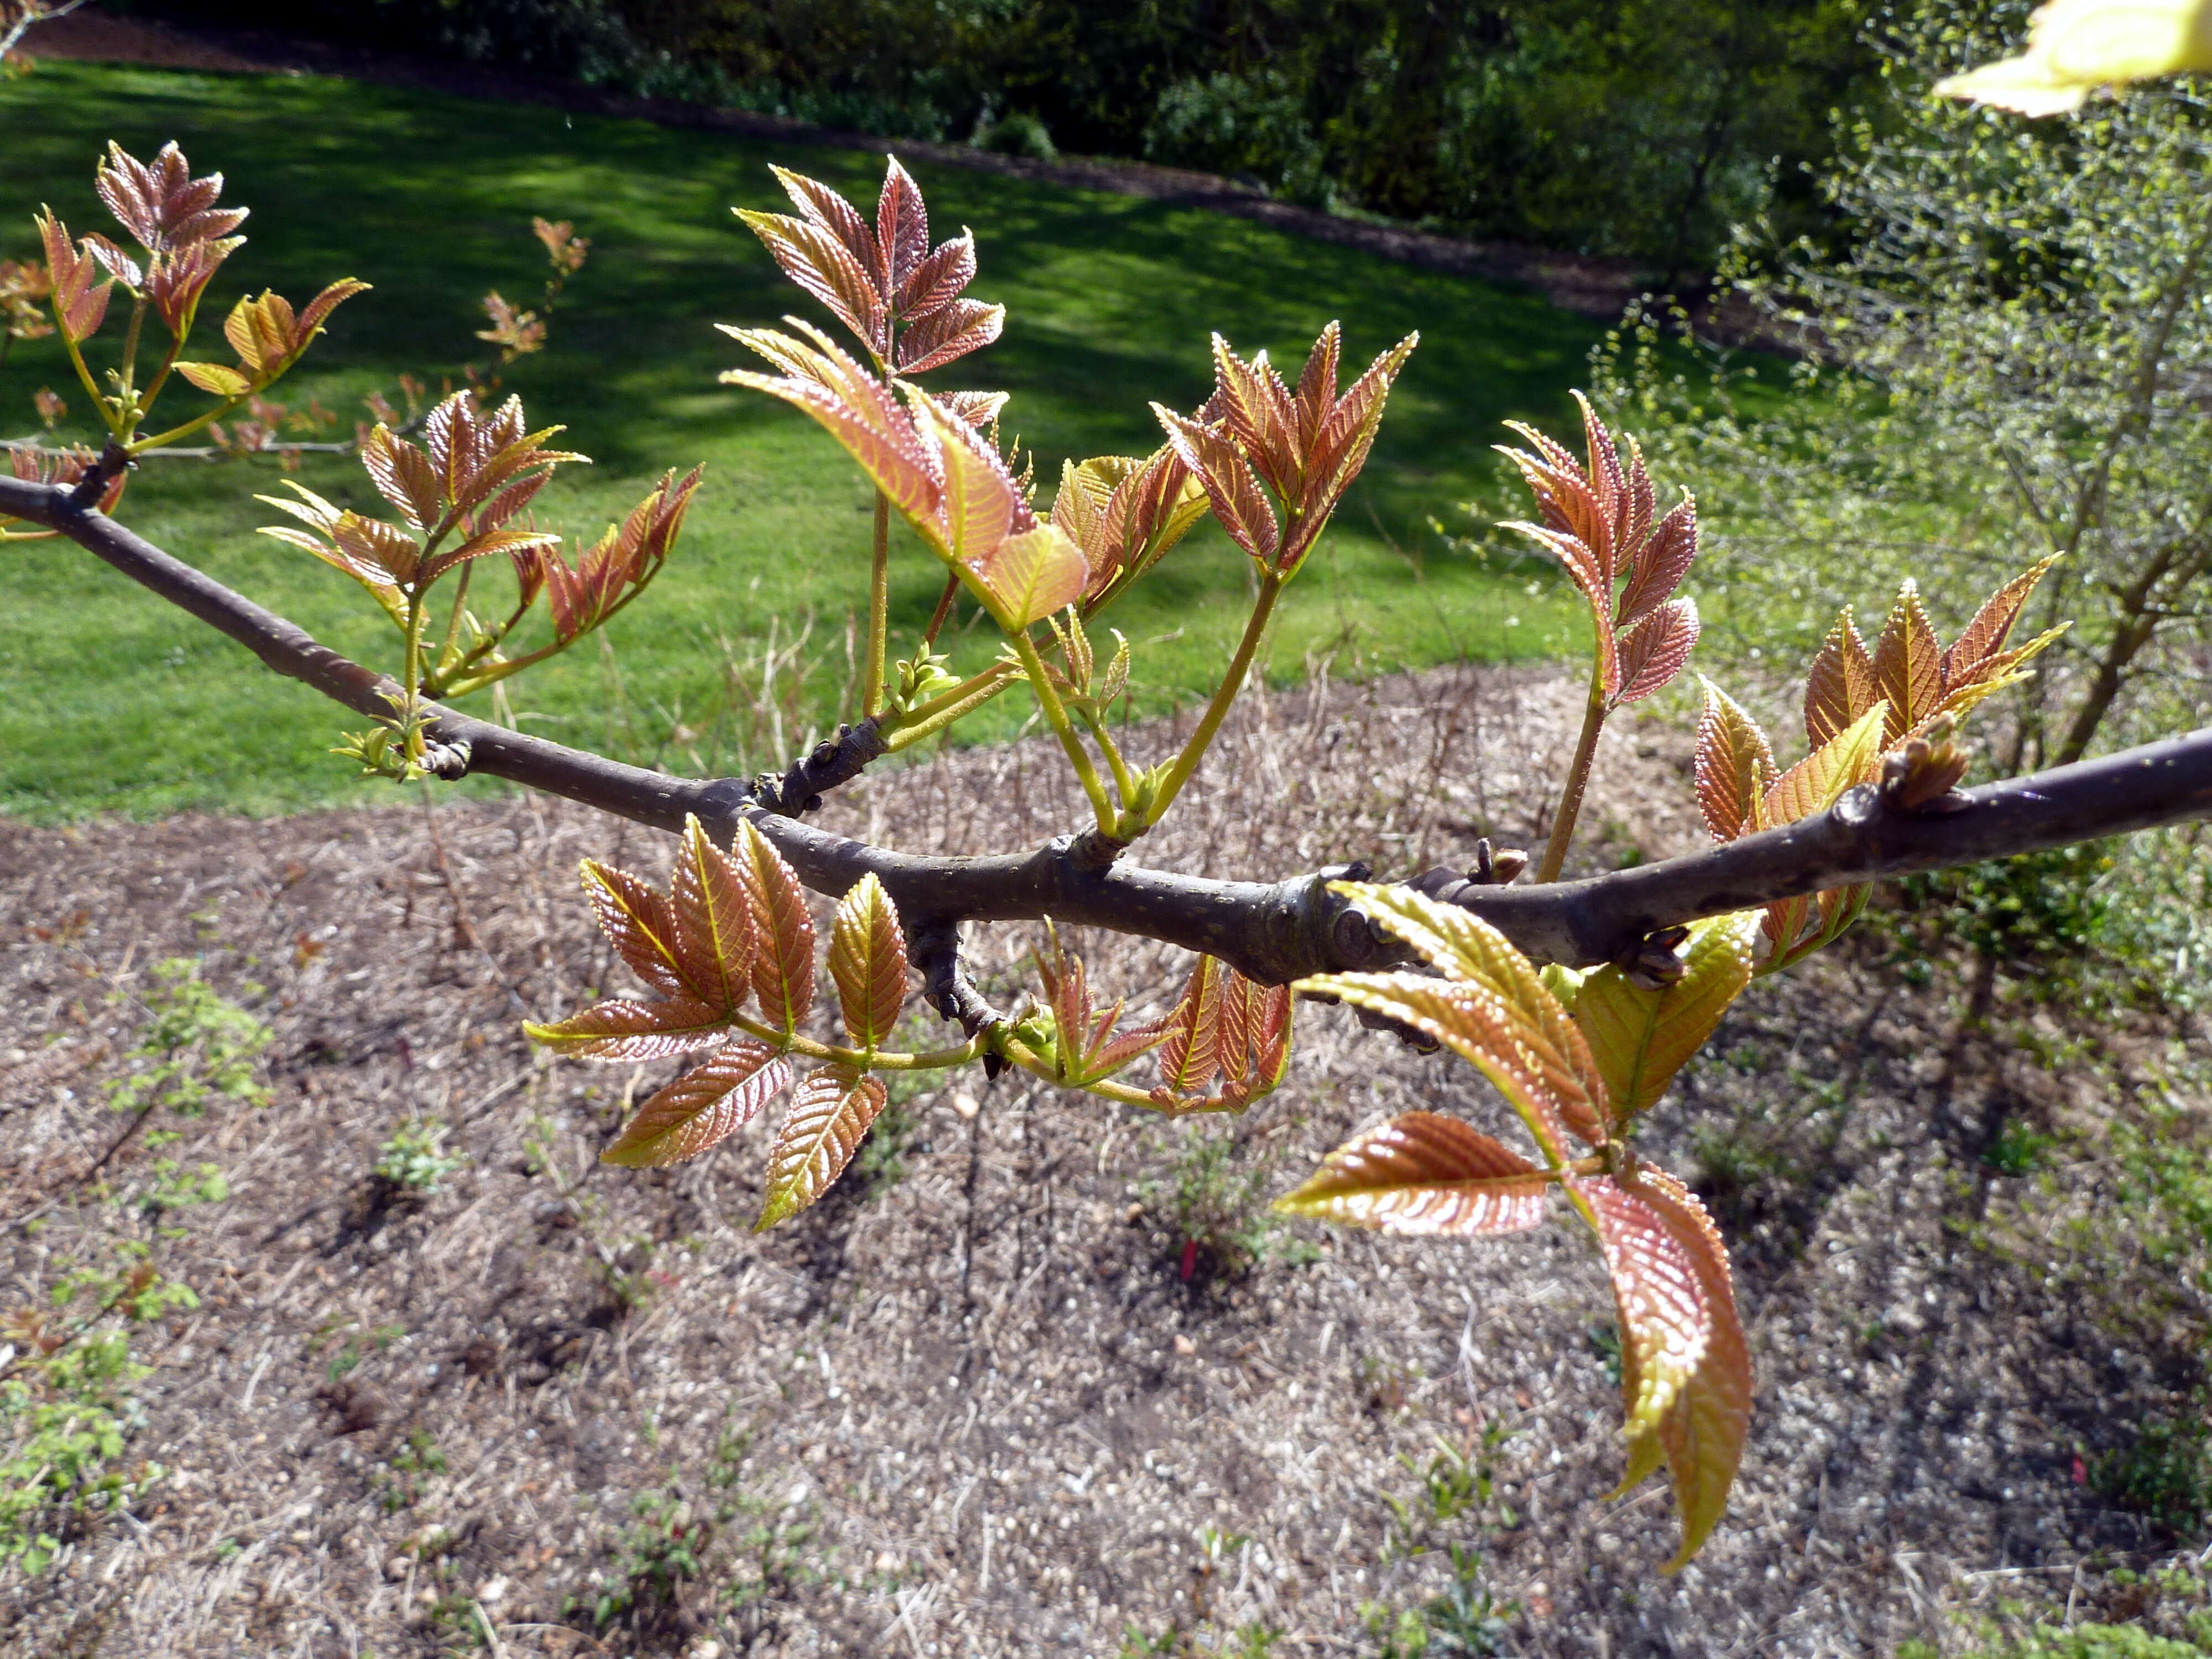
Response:
[[[872,498],[805,416],[714,383],[739,349],[712,323],[810,310],[730,215],[781,204],[770,161],[872,204],[880,159],[321,77],[49,62],[0,84],[0,254],[33,250],[40,201],[77,234],[113,230],[91,186],[108,137],[142,155],[175,137],[197,168],[228,175],[230,199],[254,208],[252,241],[204,314],[219,319],[246,285],[294,301],[343,274],[376,285],[336,314],[281,392],[294,405],[319,398],[347,427],[363,394],[392,389],[400,372],[436,383],[489,361],[471,338],[484,325],[478,299],[489,288],[533,299],[542,261],[529,219],[573,219],[591,237],[591,265],[571,285],[551,347],[507,369],[533,422],[566,422],[566,442],[597,460],[540,498],[542,520],[595,535],[670,465],[708,462],[708,487],[646,604],[617,619],[606,648],[518,681],[513,708],[546,734],[659,754],[672,768],[765,763],[772,757],[739,752],[765,741],[754,726],[714,719],[728,666],[757,655],[770,626],[790,639],[812,624],[812,714],[834,717],[847,619],[865,591]],[[1447,553],[1429,520],[1451,522],[1455,502],[1489,487],[1500,420],[1566,418],[1593,323],[1533,294],[1199,210],[953,168],[916,175],[940,234],[975,230],[982,274],[969,292],[1009,305],[1006,336],[936,378],[1013,392],[1009,429],[1037,456],[1040,500],[1064,456],[1152,447],[1148,400],[1201,400],[1210,330],[1287,365],[1332,316],[1360,361],[1420,330],[1340,529],[1292,591],[1272,641],[1276,679],[1301,677],[1323,653],[1334,653],[1336,672],[1376,672],[1551,655],[1579,639],[1555,582],[1482,571]],[[0,374],[0,436],[31,431],[31,392],[42,385],[82,414],[58,343],[20,345]],[[387,664],[389,635],[352,584],[252,533],[274,522],[252,495],[276,478],[268,462],[148,467],[124,518],[330,644]],[[352,460],[312,458],[301,480],[376,504]],[[325,754],[345,717],[250,668],[234,646],[88,555],[40,542],[0,560],[0,810],[276,812],[369,787]],[[938,584],[940,566],[907,542],[894,626],[909,641]],[[1210,686],[1243,602],[1239,555],[1214,526],[1124,602],[1113,622],[1137,641],[1139,710]],[[982,630],[964,637],[967,659],[987,653]],[[1004,699],[984,730],[1009,730],[1026,712],[1015,703]],[[792,745],[799,737],[785,732]]]

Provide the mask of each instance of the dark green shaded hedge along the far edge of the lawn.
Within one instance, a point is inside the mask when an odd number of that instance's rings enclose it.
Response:
[[[1759,212],[1809,226],[1829,113],[1874,86],[1856,0],[168,7],[894,137],[1146,157],[1657,276]]]

